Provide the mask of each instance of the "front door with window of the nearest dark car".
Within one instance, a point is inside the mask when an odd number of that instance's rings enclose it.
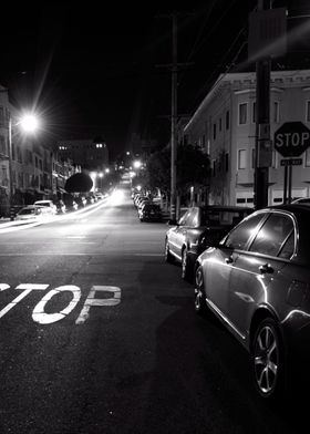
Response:
[[[204,280],[207,301],[226,322],[229,321],[230,316],[229,285],[231,269],[239,252],[246,249],[248,239],[258,227],[261,218],[261,215],[247,218],[228,234],[218,248],[210,250],[209,254],[206,252]]]

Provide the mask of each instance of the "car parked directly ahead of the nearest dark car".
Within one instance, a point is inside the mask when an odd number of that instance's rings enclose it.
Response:
[[[190,280],[197,257],[252,211],[228,205],[190,207],[178,221],[168,221],[173,227],[165,237],[166,262],[180,262],[182,278]]]

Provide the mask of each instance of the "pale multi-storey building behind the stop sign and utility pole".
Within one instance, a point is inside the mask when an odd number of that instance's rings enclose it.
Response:
[[[275,71],[270,79],[270,136],[286,122],[310,128],[310,70]],[[220,75],[183,131],[183,141],[209,155],[209,204],[254,205],[256,73]],[[268,204],[283,200],[285,168],[272,151]],[[292,198],[310,196],[310,148],[292,167]]]

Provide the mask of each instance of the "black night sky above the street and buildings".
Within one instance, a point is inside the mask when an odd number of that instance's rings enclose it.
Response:
[[[248,13],[256,6],[245,0],[186,7],[179,1],[6,3],[0,83],[9,86],[12,101],[35,104],[55,140],[102,135],[112,155],[126,148],[133,133],[159,142],[169,137],[170,73],[161,66],[172,62],[169,14],[179,12],[178,62],[188,63],[178,74],[178,113],[190,114],[216,78],[246,58]]]

